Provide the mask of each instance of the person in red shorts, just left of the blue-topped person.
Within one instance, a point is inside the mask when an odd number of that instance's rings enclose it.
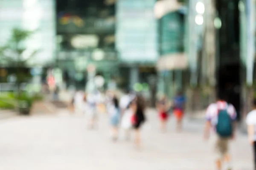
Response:
[[[166,123],[168,121],[168,110],[169,110],[169,103],[167,100],[167,97],[164,95],[159,101],[156,103],[157,106],[157,111],[159,113],[159,118],[160,118],[160,129],[163,132],[166,132]]]

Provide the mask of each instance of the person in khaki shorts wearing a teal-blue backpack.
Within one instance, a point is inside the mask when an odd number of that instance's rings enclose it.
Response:
[[[223,163],[231,170],[229,143],[235,137],[236,109],[220,96],[216,103],[209,105],[206,111],[206,126],[204,139],[209,139],[212,128],[215,132],[216,167],[221,170]]]

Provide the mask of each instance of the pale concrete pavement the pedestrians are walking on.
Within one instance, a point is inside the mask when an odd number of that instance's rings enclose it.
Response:
[[[212,146],[202,139],[203,121],[185,120],[185,131],[159,132],[157,113],[148,111],[143,148],[109,138],[108,116],[88,130],[84,116],[39,115],[0,120],[0,170],[214,170]],[[253,170],[246,136],[232,143],[234,170]]]

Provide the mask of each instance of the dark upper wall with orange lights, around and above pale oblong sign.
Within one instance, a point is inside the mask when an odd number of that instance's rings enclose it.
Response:
[[[62,36],[61,48],[74,49],[71,40],[77,34],[96,35],[95,48],[114,49],[115,4],[104,0],[57,0],[57,34]],[[109,40],[111,42],[109,42]]]

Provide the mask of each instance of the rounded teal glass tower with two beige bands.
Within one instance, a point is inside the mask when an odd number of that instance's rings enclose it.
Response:
[[[157,91],[169,97],[184,87],[183,70],[188,66],[185,55],[186,10],[186,6],[174,0],[159,0],[154,6],[159,34]]]

